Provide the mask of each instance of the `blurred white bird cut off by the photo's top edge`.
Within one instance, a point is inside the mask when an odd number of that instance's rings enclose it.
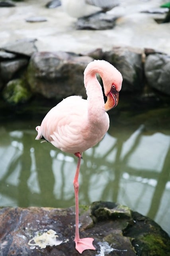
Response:
[[[74,18],[106,12],[119,5],[119,0],[61,0],[63,10]]]

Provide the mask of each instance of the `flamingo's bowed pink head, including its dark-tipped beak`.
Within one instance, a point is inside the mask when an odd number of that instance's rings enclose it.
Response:
[[[112,66],[111,76],[107,76],[107,79],[104,80],[104,93],[107,97],[105,103],[105,110],[108,111],[111,108],[115,108],[119,101],[119,91],[121,90],[122,84],[122,75],[121,73]]]

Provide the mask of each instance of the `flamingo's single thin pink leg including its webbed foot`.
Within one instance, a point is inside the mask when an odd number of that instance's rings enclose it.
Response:
[[[96,250],[96,248],[93,246],[93,238],[82,238],[80,239],[79,236],[79,206],[78,206],[78,188],[79,188],[79,184],[78,184],[78,175],[79,175],[79,171],[80,171],[80,163],[81,163],[81,159],[82,159],[82,154],[80,153],[76,153],[76,156],[78,156],[78,162],[77,162],[77,168],[76,168],[76,174],[74,176],[74,194],[75,194],[75,205],[76,205],[76,232],[75,232],[75,238],[74,238],[74,242],[76,244],[76,250],[82,254],[82,252],[84,250],[87,249],[91,249],[91,250]]]

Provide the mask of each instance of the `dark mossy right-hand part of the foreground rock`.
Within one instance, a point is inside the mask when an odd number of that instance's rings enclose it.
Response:
[[[129,255],[133,255],[133,250],[134,255],[137,256],[170,255],[168,234],[156,222],[138,212],[133,212],[127,206],[113,202],[94,202],[91,204],[91,214],[96,227],[99,223],[100,227],[104,223],[104,228],[107,229],[103,240],[108,244],[114,244],[119,250],[122,245],[126,244],[127,248],[130,248],[131,244]],[[109,228],[112,230],[108,232]],[[121,253],[127,255],[125,250]]]

